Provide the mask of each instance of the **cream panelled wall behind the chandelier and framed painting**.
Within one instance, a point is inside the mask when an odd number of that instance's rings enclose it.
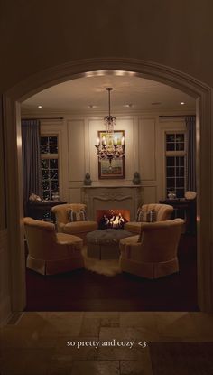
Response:
[[[132,184],[139,172],[144,186],[144,203],[165,197],[164,137],[166,130],[185,130],[183,118],[147,114],[116,116],[117,130],[125,130],[125,179],[98,180],[95,143],[97,131],[105,130],[103,117],[64,117],[42,120],[42,135],[59,136],[60,198],[81,202],[81,187],[89,172],[94,185]]]

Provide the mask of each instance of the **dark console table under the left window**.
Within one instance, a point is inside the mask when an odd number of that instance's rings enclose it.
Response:
[[[64,201],[29,202],[27,206],[28,215],[35,220],[47,220],[55,223],[55,215],[51,212],[51,208],[66,203]]]

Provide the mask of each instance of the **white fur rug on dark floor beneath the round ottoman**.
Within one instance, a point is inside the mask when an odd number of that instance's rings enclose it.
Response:
[[[90,258],[87,256],[87,246],[84,246],[82,254],[84,257],[85,268],[89,271],[108,277],[121,273],[118,259],[99,260],[96,258]]]

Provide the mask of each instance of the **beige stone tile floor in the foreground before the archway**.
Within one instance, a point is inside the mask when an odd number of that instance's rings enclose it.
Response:
[[[213,314],[23,313],[0,340],[1,375],[153,375],[149,342],[213,342]]]

